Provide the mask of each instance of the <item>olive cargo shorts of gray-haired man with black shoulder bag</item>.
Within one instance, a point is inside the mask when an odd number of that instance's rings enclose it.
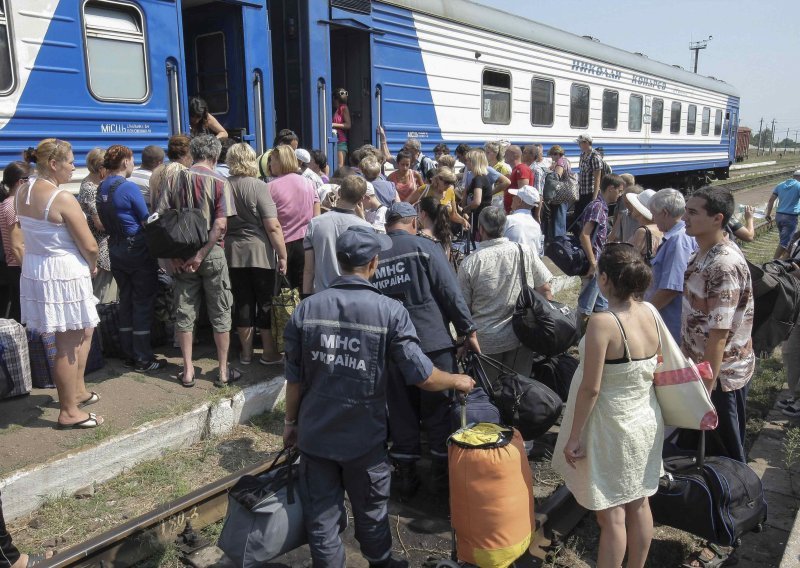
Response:
[[[191,332],[205,297],[208,319],[214,333],[231,330],[233,294],[228,263],[222,247],[214,246],[200,263],[197,272],[178,272],[174,276],[175,330]],[[204,294],[204,296],[202,295]]]

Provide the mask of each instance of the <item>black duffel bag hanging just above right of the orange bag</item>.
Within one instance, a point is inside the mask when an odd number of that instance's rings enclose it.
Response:
[[[477,358],[482,372],[483,365],[499,371],[490,396],[500,410],[503,424],[519,430],[524,440],[533,440],[556,423],[564,403],[550,388],[491,357],[478,354]]]

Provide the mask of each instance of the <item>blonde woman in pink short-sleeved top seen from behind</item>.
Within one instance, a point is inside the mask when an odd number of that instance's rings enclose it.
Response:
[[[305,265],[303,237],[306,236],[309,221],[319,215],[319,195],[311,180],[297,173],[298,169],[297,157],[291,146],[276,146],[270,153],[269,170],[275,179],[267,187],[278,209],[278,222],[286,243],[286,277],[292,288],[302,289]]]

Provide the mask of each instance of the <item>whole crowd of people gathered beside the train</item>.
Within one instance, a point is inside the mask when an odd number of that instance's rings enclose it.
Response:
[[[753,297],[735,237],[753,238],[752,209],[735,226],[724,189],[688,198],[643,189],[630,174],[611,173],[587,135],[577,139],[577,173],[558,145],[545,152],[489,141],[451,154],[439,144],[430,157],[410,138],[392,154],[379,129],[381,147],[352,148],[346,97],[337,91],[333,128],[343,134],[334,171],[324,152],[302,148],[290,130],[257,155],[227,138],[197,102],[191,135],[172,136],[166,151],[144,148],[139,164],[122,145],[88,152],[77,199],[63,188],[75,169],[67,141],[42,140],[6,165],[0,308],[29,329],[55,333],[56,426],[104,422],[86,410],[102,397],[84,381],[98,302],[119,302],[126,367],[167,367],[150,341],[166,273],[181,385],[198,380],[201,304],[216,346],[216,386],[235,383],[253,363],[284,367],[284,440],[304,456],[315,565],[344,566],[346,491],[370,566],[402,566],[391,555],[390,479],[401,499],[426,481],[446,491],[451,393],[474,387],[459,356],[472,350],[530,375],[536,354],[511,323],[522,282],[510,275],[524,263],[528,285],[552,299],[544,245],[574,231],[589,266],[577,302],[584,335],[553,465],[578,502],[597,511],[597,565],[620,566],[627,550],[628,566],[644,566],[653,535],[647,498],[663,473],[664,425],[652,387],[658,318],[687,357],[713,370],[707,386],[719,426],[708,454],[745,461]],[[576,200],[545,200],[551,172],[577,181]],[[207,241],[189,258],[154,258],[148,219],[185,207],[201,212]],[[302,301],[281,350],[270,318],[282,286]],[[431,480],[416,470],[421,431]],[[677,443],[697,441],[681,432]],[[687,566],[716,565],[709,562],[722,554],[703,550]]]

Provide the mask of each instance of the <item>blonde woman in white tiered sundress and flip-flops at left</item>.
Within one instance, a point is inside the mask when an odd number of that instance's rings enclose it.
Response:
[[[94,428],[103,418],[83,407],[100,401],[83,380],[92,333],[99,323],[92,275],[97,241],[78,200],[59,186],[72,178],[75,157],[69,142],[47,138],[25,152],[36,163],[36,181],[16,195],[25,239],[20,307],[28,329],[54,332],[54,380],[59,428]]]

